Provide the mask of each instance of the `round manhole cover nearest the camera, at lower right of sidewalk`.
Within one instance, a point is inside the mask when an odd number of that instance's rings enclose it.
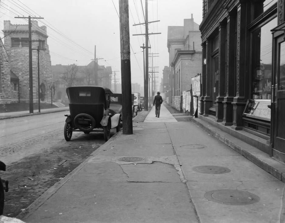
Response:
[[[259,197],[255,194],[243,190],[211,190],[205,194],[209,201],[214,201],[220,204],[229,205],[245,205],[259,201]]]

